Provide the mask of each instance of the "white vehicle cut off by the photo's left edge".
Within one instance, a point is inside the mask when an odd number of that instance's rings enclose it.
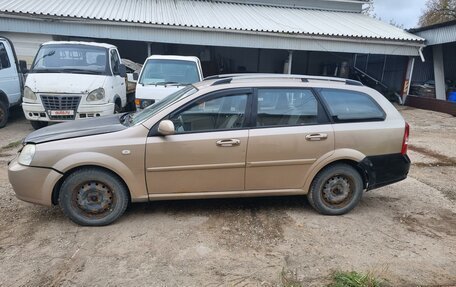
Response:
[[[9,110],[21,103],[26,67],[25,61],[17,61],[13,43],[0,37],[0,128],[8,122]]]

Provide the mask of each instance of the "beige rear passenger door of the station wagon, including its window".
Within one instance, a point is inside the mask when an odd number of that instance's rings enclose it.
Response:
[[[261,88],[254,97],[246,190],[297,190],[334,150],[334,132],[311,89]]]

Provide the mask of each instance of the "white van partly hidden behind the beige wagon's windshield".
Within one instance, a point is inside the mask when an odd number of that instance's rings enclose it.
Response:
[[[197,57],[152,55],[146,59],[136,85],[136,108],[145,107],[203,79]]]

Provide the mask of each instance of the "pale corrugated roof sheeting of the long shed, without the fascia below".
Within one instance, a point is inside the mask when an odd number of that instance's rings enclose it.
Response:
[[[422,42],[360,13],[203,0],[0,0],[4,14]]]

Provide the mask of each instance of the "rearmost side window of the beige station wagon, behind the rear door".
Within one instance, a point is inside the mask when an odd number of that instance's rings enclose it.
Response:
[[[333,89],[321,89],[320,94],[335,122],[385,120],[385,112],[369,95]]]

